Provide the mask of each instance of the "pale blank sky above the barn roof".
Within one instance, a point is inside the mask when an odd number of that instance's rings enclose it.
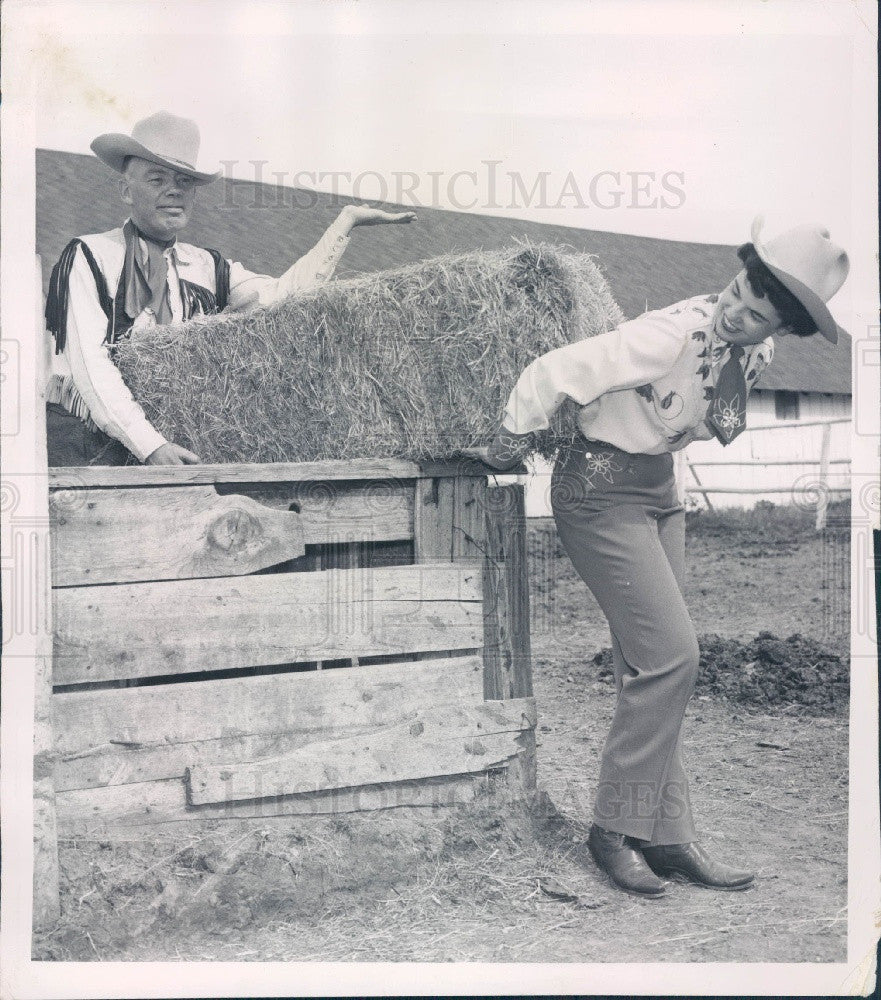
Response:
[[[230,176],[717,243],[763,214],[768,235],[817,221],[852,246],[874,194],[865,4],[26,6],[43,148],[88,153],[165,109]]]

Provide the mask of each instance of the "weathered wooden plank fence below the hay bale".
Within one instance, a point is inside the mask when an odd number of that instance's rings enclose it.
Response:
[[[43,830],[526,797],[523,490],[487,471],[49,470]]]

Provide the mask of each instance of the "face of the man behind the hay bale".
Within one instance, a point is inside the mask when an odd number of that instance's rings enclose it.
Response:
[[[190,221],[196,184],[187,174],[135,156],[126,164],[120,194],[138,229],[171,240]]]

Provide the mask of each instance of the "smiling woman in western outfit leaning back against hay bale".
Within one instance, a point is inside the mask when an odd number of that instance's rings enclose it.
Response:
[[[685,515],[671,452],[696,439],[730,443],[746,397],[773,356],[772,335],[835,343],[826,303],[847,254],[819,226],[738,250],[743,269],[719,295],[686,299],[551,351],[520,376],[488,464],[510,468],[531,432],[567,398],[583,438],[551,480],[560,540],[612,633],[617,703],[603,749],[588,847],[627,892],[664,893],[665,878],[745,889],[754,876],[697,844],[680,728],[698,645],[682,596]]]

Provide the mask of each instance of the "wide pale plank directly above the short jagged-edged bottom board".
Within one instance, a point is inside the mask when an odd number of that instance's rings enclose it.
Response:
[[[56,694],[61,790],[179,777],[394,725],[483,695],[479,657]],[[249,756],[253,755],[253,756]]]

